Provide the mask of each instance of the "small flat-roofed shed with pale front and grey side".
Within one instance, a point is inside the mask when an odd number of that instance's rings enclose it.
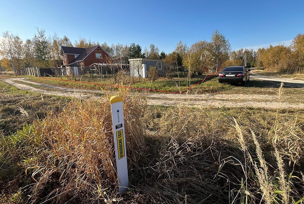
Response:
[[[134,58],[129,59],[131,77],[148,77],[150,66],[155,66],[159,76],[164,75],[164,60]]]

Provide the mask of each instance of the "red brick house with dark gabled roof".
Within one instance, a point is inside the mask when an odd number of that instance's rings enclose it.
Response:
[[[65,67],[85,67],[93,63],[114,63],[115,60],[100,45],[88,48],[61,46]]]

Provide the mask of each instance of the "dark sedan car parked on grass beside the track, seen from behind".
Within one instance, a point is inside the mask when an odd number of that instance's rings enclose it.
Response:
[[[229,66],[225,67],[219,73],[219,83],[241,83],[245,86],[249,82],[249,73],[244,66]]]

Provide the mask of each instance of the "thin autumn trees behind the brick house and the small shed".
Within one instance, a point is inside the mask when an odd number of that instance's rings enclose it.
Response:
[[[87,40],[80,37],[74,43],[67,36],[59,37],[57,33],[47,37],[44,29],[36,28],[36,33],[32,39],[23,41],[18,34],[13,34],[9,31],[3,32],[3,38],[0,42],[0,68],[2,70],[12,70],[10,61],[10,52],[16,69],[23,67],[60,67],[63,65],[63,59],[60,55],[60,47],[81,47],[88,48],[98,45],[99,42]],[[150,45],[150,49],[145,48],[143,51],[140,45],[132,43],[127,44],[112,44],[106,42],[100,44],[106,52],[108,52],[115,60],[122,63],[128,63],[129,58],[143,57],[161,59],[164,52],[159,54],[159,49],[154,44]]]

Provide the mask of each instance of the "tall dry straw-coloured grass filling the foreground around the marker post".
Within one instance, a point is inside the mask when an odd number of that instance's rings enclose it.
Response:
[[[73,100],[61,113],[50,112],[2,140],[2,158],[12,151],[27,155],[19,161],[30,180],[21,190],[27,189],[26,202],[303,202],[301,110],[193,108],[191,101],[157,107],[147,106],[142,95],[118,94],[124,98],[130,191],[121,196],[117,190],[105,95]]]

